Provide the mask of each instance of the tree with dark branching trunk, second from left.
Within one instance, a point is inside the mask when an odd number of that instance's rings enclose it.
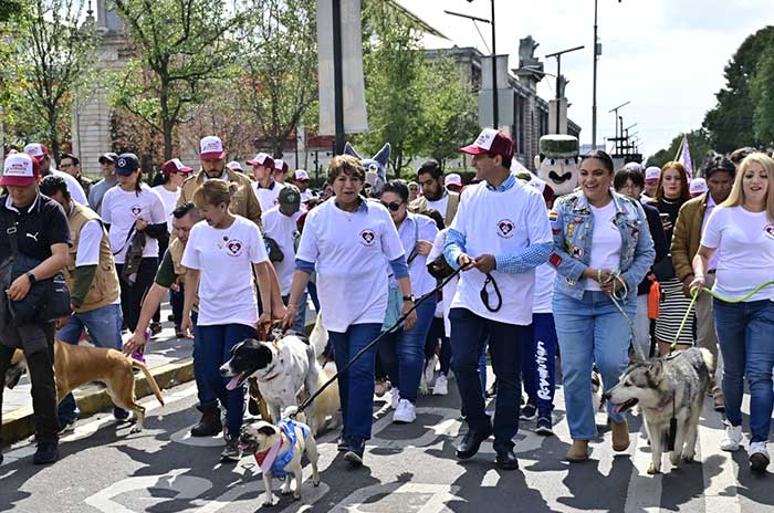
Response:
[[[113,0],[125,21],[135,56],[116,80],[113,103],[143,119],[164,138],[172,157],[176,128],[233,61],[232,30],[247,19],[222,0]]]

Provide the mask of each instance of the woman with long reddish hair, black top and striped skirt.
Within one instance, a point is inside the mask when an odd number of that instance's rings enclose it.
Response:
[[[661,175],[656,187],[656,197],[652,206],[656,207],[663,222],[663,230],[667,237],[667,247],[672,245],[672,232],[677,224],[680,208],[691,199],[688,188],[688,172],[680,163],[667,163],[661,168]],[[671,254],[659,262],[653,268],[656,279],[661,286],[661,302],[659,314],[656,320],[656,341],[658,341],[659,353],[666,355],[670,350],[670,345],[674,342],[680,324],[686,316],[686,312],[691,304],[691,300],[686,297],[682,283],[674,272]],[[693,317],[689,317],[686,323],[678,348],[684,349],[693,344]]]

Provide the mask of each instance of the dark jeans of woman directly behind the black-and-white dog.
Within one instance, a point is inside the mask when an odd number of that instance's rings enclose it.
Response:
[[[244,418],[244,386],[227,390],[226,384],[231,378],[220,376],[220,366],[231,357],[231,348],[245,338],[255,337],[255,327],[244,324],[219,324],[215,326],[198,326],[196,357],[199,362],[201,379],[215,392],[222,406],[226,407],[226,422],[230,437],[239,436]]]

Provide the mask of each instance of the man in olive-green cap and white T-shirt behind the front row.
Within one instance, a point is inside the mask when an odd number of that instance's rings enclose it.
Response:
[[[276,207],[263,212],[261,222],[264,239],[272,239],[282,252],[282,260],[272,260],[272,264],[280,280],[282,301],[287,304],[295,272],[295,245],[300,237],[297,221],[301,217],[301,192],[295,186],[285,186],[280,190],[279,201]],[[299,301],[299,305],[301,307],[293,329],[303,333],[306,320],[306,294]]]

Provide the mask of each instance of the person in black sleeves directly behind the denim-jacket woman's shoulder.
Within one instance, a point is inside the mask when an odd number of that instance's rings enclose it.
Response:
[[[660,262],[669,253],[669,247],[667,245],[667,237],[663,233],[663,224],[661,223],[661,218],[659,217],[658,209],[650,203],[642,202],[641,195],[645,190],[645,175],[642,171],[621,168],[616,172],[616,177],[613,180],[613,185],[616,192],[619,195],[628,196],[629,198],[639,201],[645,210],[645,217],[648,219],[648,229],[650,229],[650,237],[653,239],[653,245],[656,249],[656,261]],[[651,353],[650,341],[650,326],[651,320],[648,316],[648,296],[650,295],[650,287],[652,286],[656,276],[651,271],[646,274],[645,279],[637,285],[637,318],[635,322],[635,346],[639,348],[639,353],[648,358]]]

